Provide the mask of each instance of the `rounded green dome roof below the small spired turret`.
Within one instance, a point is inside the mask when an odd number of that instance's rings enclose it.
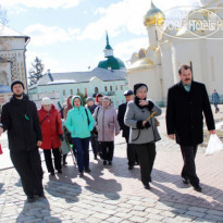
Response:
[[[98,67],[100,69],[111,69],[111,70],[123,70],[126,69],[125,64],[123,63],[122,60],[120,60],[119,58],[114,58],[114,57],[109,57],[107,58],[107,60],[104,61],[100,61],[98,63]]]

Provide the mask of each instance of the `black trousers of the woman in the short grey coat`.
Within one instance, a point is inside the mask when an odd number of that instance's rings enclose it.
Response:
[[[149,183],[151,179],[151,172],[157,154],[156,144],[137,144],[135,145],[140,165],[141,182],[143,184]]]

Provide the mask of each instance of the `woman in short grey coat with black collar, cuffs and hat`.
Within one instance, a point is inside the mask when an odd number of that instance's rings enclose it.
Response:
[[[124,123],[131,127],[129,144],[135,145],[140,164],[141,182],[146,189],[150,189],[151,171],[156,158],[156,141],[160,135],[156,120],[150,116],[161,114],[161,109],[147,99],[148,87],[145,84],[134,86],[134,101],[127,103]],[[148,119],[150,117],[150,119]]]

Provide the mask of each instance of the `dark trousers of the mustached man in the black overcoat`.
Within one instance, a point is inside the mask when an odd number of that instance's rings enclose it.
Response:
[[[199,178],[196,174],[195,157],[198,146],[182,146],[182,157],[184,160],[184,166],[182,170],[182,177],[188,178],[193,186],[199,185]]]

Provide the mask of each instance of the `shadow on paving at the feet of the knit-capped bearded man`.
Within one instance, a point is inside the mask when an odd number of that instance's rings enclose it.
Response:
[[[16,222],[62,222],[59,218],[50,215],[51,209],[46,198],[38,198],[33,203],[25,202]]]

